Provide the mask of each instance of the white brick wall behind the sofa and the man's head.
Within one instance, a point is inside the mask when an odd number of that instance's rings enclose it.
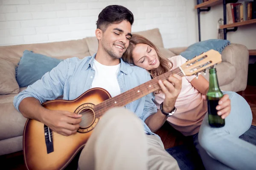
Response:
[[[0,45],[95,36],[99,12],[111,4],[133,12],[132,32],[160,28],[166,48],[188,45],[186,0],[0,0]]]

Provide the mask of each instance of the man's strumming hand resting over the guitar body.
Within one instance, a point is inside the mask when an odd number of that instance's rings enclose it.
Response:
[[[42,117],[43,122],[53,131],[69,136],[79,129],[81,122],[81,116],[76,113],[71,113],[68,111],[50,111],[48,110],[46,114]]]

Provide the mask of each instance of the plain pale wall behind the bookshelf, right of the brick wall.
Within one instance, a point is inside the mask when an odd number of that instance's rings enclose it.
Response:
[[[196,3],[196,0],[189,0],[191,5]],[[192,2],[194,1],[194,2]],[[196,41],[198,42],[198,20],[197,11],[196,22],[191,22],[191,32],[196,32]],[[223,19],[223,5],[213,6],[208,12],[201,12],[201,41],[218,38],[217,24],[220,18]],[[193,30],[196,28],[195,30]],[[227,33],[227,40],[232,43],[245,45],[248,49],[256,49],[256,24],[249,26],[238,27],[235,32]],[[190,43],[189,43],[190,44]]]

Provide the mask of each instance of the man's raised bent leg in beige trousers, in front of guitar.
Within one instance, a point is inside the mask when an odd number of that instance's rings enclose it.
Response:
[[[147,140],[140,119],[125,108],[107,111],[79,157],[84,170],[147,170]]]

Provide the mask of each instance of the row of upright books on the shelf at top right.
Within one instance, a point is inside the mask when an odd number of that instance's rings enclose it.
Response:
[[[256,0],[227,3],[226,9],[228,24],[256,19]]]

